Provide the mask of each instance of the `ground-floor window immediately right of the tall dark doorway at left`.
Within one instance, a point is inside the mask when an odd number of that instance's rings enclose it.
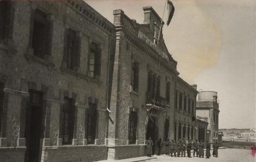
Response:
[[[65,97],[63,107],[63,145],[72,144],[74,133],[74,112],[74,99]]]

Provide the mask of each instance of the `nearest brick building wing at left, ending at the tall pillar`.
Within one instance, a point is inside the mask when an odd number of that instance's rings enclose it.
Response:
[[[107,159],[114,25],[83,1],[0,12],[0,161]]]

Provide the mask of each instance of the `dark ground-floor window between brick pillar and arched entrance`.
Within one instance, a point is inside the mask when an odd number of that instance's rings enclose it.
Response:
[[[131,111],[129,115],[129,142],[130,144],[136,143],[137,137],[137,113]]]

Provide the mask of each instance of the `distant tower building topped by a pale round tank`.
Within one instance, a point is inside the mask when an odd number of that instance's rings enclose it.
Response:
[[[207,140],[214,142],[218,140],[219,132],[219,103],[217,92],[200,91],[197,101],[197,116],[208,119]]]

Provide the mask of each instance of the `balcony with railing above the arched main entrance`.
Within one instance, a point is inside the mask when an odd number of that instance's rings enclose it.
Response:
[[[147,101],[146,105],[155,105],[157,107],[165,108],[166,107],[166,99],[157,95],[152,94],[152,92],[147,92]]]

